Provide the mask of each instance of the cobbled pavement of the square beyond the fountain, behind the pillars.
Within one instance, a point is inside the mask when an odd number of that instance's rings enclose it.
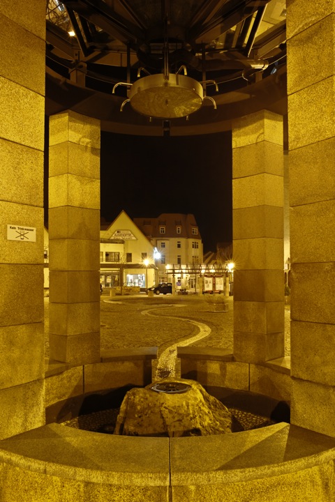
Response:
[[[159,356],[169,347],[188,344],[232,351],[232,297],[228,298],[228,304],[228,312],[211,312],[211,305],[205,301],[204,296],[160,295],[150,298],[143,294],[110,298],[103,295],[101,349],[158,347]],[[45,298],[46,357],[49,353],[48,307],[49,298]],[[290,309],[286,306],[285,356],[289,355]]]

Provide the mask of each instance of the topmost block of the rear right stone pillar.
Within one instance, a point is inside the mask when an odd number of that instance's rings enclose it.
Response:
[[[283,144],[283,117],[269,110],[260,110],[240,117],[233,124],[232,148],[267,141]]]

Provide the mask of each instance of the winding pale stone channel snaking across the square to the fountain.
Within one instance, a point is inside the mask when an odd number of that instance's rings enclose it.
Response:
[[[149,309],[143,310],[141,314],[150,315],[154,317],[160,317],[160,314],[154,313],[154,310],[161,310],[164,307],[182,307],[183,305],[161,305],[160,307],[151,307]],[[194,342],[198,342],[202,338],[207,337],[211,333],[211,328],[199,321],[194,321],[193,319],[186,319],[185,317],[178,316],[164,316],[164,319],[177,319],[178,321],[185,321],[193,324],[199,329],[197,335],[192,337],[177,338],[174,342],[165,342],[158,347],[157,354],[157,367],[156,374],[153,375],[153,380],[160,380],[165,377],[180,377],[180,370],[178,370],[177,362],[177,347],[186,347]]]

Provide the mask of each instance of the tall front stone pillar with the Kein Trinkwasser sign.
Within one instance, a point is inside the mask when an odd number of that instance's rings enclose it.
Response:
[[[4,439],[44,424],[45,3],[34,4],[31,16],[27,1],[0,2],[0,25],[0,439]]]

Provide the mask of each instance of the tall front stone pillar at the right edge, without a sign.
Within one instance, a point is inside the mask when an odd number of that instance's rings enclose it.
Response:
[[[288,1],[292,423],[335,436],[335,11]]]

